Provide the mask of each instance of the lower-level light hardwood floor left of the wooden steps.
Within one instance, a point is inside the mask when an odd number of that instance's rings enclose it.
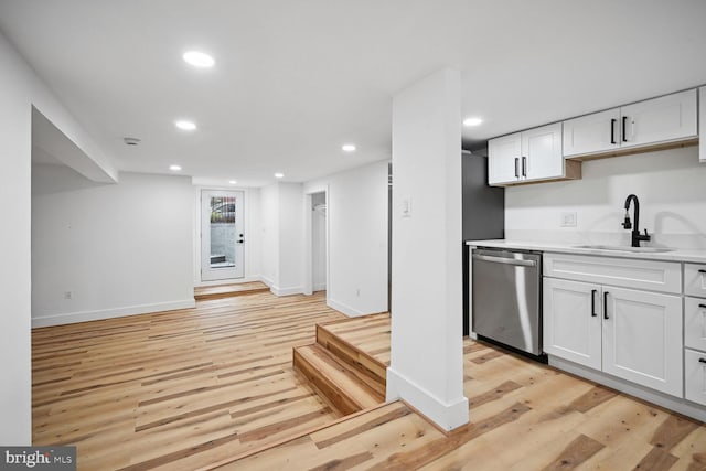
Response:
[[[77,446],[82,470],[190,470],[330,424],[291,350],[340,319],[265,292],[35,329],[34,445]]]

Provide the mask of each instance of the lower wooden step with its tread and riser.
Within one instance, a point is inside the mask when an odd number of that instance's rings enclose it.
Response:
[[[293,365],[342,415],[375,407],[385,400],[384,394],[368,386],[370,378],[364,379],[357,370],[319,343],[295,347]]]

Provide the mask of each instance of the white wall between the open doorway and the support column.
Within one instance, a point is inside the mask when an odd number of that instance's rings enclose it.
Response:
[[[304,193],[328,189],[327,298],[347,315],[387,311],[387,163],[304,183]]]

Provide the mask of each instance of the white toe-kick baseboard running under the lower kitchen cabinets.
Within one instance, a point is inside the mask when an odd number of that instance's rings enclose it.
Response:
[[[621,393],[675,410],[680,414],[684,414],[685,416],[695,418],[696,420],[706,421],[706,408],[686,399],[670,396],[552,355],[549,355],[549,366],[585,377],[586,379],[590,379],[595,383],[603,384],[608,387],[620,390]]]

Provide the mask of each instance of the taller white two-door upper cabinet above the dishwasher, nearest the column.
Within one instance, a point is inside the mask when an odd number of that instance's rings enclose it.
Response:
[[[565,176],[561,124],[488,141],[488,183],[503,185]]]

